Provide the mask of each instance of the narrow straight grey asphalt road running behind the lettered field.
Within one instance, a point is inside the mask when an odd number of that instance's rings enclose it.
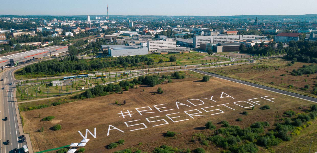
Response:
[[[300,98],[300,99],[304,99],[304,100],[307,100],[307,101],[312,101],[312,102],[317,103],[317,98],[308,97],[308,96],[305,96],[305,95],[299,95],[299,94],[296,94],[296,93],[292,93],[292,92],[288,92],[288,91],[284,91],[284,90],[280,90],[280,89],[275,89],[275,88],[271,88],[271,87],[255,84],[255,83],[249,83],[249,82],[246,82],[246,81],[241,81],[241,80],[233,79],[233,78],[226,77],[226,76],[220,76],[220,75],[217,75],[217,74],[204,72],[204,71],[201,71],[201,70],[198,70],[198,69],[192,69],[192,71],[198,72],[198,73],[202,73],[202,74],[205,74],[205,75],[208,75],[208,76],[214,76],[214,77],[218,77],[218,78],[221,78],[221,79],[229,80],[229,81],[232,81],[232,82],[241,83],[241,84],[249,85],[249,86],[252,86],[252,87],[265,89],[265,90],[273,91],[273,92],[276,92],[276,93],[279,93],[279,94],[289,95],[289,96],[292,96],[292,97],[296,97],[296,98]]]

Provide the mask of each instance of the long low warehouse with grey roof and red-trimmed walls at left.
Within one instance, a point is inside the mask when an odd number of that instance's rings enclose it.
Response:
[[[17,62],[24,62],[30,59],[38,59],[47,56],[53,56],[59,54],[61,52],[66,52],[68,50],[68,46],[49,46],[44,48],[39,48],[32,51],[20,52],[8,56],[0,57],[0,66],[5,66],[6,64]]]

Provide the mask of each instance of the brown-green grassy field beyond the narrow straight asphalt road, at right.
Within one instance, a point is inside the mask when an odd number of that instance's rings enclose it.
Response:
[[[303,65],[309,64],[296,62],[292,66],[287,66],[287,63],[290,62],[281,58],[269,58],[259,60],[255,64],[242,64],[203,70],[316,98],[317,95],[313,95],[312,92],[313,87],[317,83],[317,74],[310,74],[309,76],[304,74],[302,76],[291,75],[293,69],[297,70]],[[292,89],[288,88],[291,84],[294,85]],[[306,84],[310,86],[310,89],[306,91],[301,90]]]

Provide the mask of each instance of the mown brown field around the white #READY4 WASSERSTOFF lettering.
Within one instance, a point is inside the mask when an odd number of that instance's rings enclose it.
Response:
[[[158,87],[161,87],[164,93],[154,95]],[[145,89],[145,91],[143,92],[142,89]],[[220,98],[222,92],[231,95],[234,99],[231,97]],[[217,102],[203,99],[210,98],[211,96],[213,96],[212,100]],[[275,102],[261,98],[263,96],[270,96],[266,97],[267,99],[275,98],[272,99],[272,101]],[[243,108],[233,103],[237,101],[247,101],[253,98],[258,98],[253,101],[261,101],[258,102],[258,104],[262,106],[269,105],[271,109],[261,110],[259,109],[261,106],[254,104],[255,109],[251,110],[250,108]],[[202,100],[204,101],[204,104],[193,106],[186,101],[191,99]],[[115,101],[123,103],[124,100],[127,100],[126,105],[119,106],[114,104]],[[191,107],[180,105],[178,109],[175,104],[176,101]],[[200,104],[201,102],[193,100],[192,103]],[[228,107],[235,110],[225,106],[217,106],[226,103],[229,103],[227,104]],[[252,102],[249,101],[249,103]],[[87,138],[90,139],[90,141],[85,146],[86,152],[113,152],[129,147],[132,147],[134,150],[135,148],[139,148],[142,151],[150,152],[155,147],[162,144],[167,144],[179,149],[196,149],[197,147],[202,147],[198,142],[190,142],[190,139],[193,133],[211,133],[210,130],[206,130],[203,127],[209,120],[211,120],[214,124],[220,122],[221,120],[227,120],[231,125],[239,125],[241,127],[247,127],[256,121],[268,121],[270,125],[273,125],[276,117],[281,116],[283,112],[293,110],[299,106],[309,105],[311,103],[312,102],[262,89],[252,88],[250,86],[225,81],[219,78],[210,78],[209,82],[200,82],[200,80],[185,78],[183,81],[180,80],[179,82],[161,84],[155,87],[139,86],[138,89],[129,89],[129,91],[125,91],[123,94],[112,94],[104,97],[70,102],[55,107],[21,112],[21,115],[24,117],[24,132],[30,133],[35,152],[80,142],[82,137],[77,131],[81,131],[81,133],[85,136],[85,130],[89,129],[94,134],[94,127],[96,128],[97,138],[93,138],[88,133]],[[166,104],[157,106],[158,108],[166,107],[161,108],[160,110],[173,110],[159,112],[155,107],[153,107],[153,105],[159,104]],[[244,107],[252,106],[245,102],[239,102],[238,104]],[[214,107],[204,108],[210,106]],[[142,113],[141,116],[135,109],[140,107],[150,107],[152,110],[148,112],[154,113]],[[201,108],[204,108],[207,111],[215,111],[205,112]],[[184,111],[194,109],[198,109],[202,112],[197,115],[205,116],[193,116],[194,119],[192,119],[184,113]],[[221,109],[224,113],[220,113],[220,111],[217,111],[216,109]],[[127,110],[134,113],[132,117],[125,116],[125,119],[123,119],[117,114],[120,113],[120,111],[126,112]],[[146,108],[140,110],[146,110]],[[249,112],[248,116],[240,114],[245,110]],[[165,116],[166,114],[171,113],[178,114],[169,115],[170,117],[180,116],[179,118],[173,118],[175,121],[183,119],[188,120],[173,123],[171,119]],[[197,111],[188,113],[197,113]],[[211,115],[213,113],[219,114]],[[41,115],[41,118],[39,118],[39,114]],[[52,121],[40,121],[46,116],[55,116],[55,119]],[[164,121],[149,123],[146,120],[146,118],[155,116],[160,117],[149,120],[153,121],[165,119],[169,124],[153,127],[153,125],[165,123]],[[237,118],[242,118],[243,121],[235,121]],[[127,127],[124,123],[127,121],[135,121],[127,123],[128,125],[144,123],[147,128],[130,131],[144,126],[138,125]],[[49,130],[50,127],[57,123],[62,126],[62,130]],[[124,131],[124,133],[118,130],[110,130],[109,136],[107,136],[109,125],[119,128]],[[44,127],[44,132],[37,132],[36,130],[40,129],[42,126]],[[220,126],[217,125],[217,127],[219,128]],[[166,138],[164,137],[164,134],[168,130],[175,131],[180,134],[178,134],[175,138]],[[117,148],[111,150],[105,148],[106,145],[111,142],[117,142],[119,139],[124,139],[125,145],[118,146]],[[142,142],[143,145],[139,146],[138,144],[140,142]],[[222,150],[213,145],[210,147],[204,146],[204,148],[207,152],[219,152]],[[261,148],[260,152],[268,152],[268,150]]]

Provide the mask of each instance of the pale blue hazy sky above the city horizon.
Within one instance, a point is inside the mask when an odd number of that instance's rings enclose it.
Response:
[[[301,15],[317,0],[0,0],[9,15]]]

